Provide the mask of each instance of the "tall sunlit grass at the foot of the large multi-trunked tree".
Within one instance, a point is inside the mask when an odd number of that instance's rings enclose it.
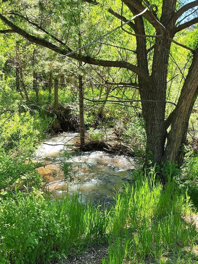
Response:
[[[169,255],[170,263],[182,263],[179,252],[197,243],[195,227],[182,218],[190,210],[187,194],[180,194],[171,180],[162,186],[154,172],[127,186],[112,208],[109,260],[103,263],[166,263]],[[188,252],[184,259],[191,257]]]

